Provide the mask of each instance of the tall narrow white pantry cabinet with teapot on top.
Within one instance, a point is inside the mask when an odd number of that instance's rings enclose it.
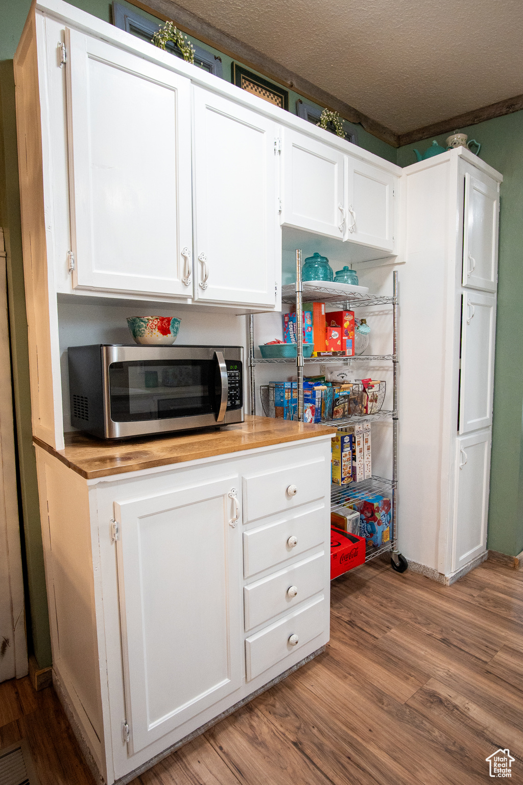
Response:
[[[486,556],[502,179],[465,148],[403,170],[400,546],[446,582]]]

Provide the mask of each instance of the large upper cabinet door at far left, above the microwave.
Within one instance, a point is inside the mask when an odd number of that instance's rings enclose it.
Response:
[[[190,297],[189,80],[74,30],[67,60],[74,287]]]

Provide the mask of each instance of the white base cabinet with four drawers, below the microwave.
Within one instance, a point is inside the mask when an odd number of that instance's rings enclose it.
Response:
[[[329,640],[329,435],[96,480],[37,464],[53,669],[107,785]]]

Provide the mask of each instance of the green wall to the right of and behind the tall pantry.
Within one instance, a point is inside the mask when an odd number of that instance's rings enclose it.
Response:
[[[523,550],[523,111],[460,128],[481,143],[480,158],[503,174],[499,213],[499,276],[494,371],[488,548]],[[436,137],[445,147],[449,133]],[[398,150],[398,164],[416,161],[432,140]]]

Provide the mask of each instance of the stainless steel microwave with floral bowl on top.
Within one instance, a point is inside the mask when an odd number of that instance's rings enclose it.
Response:
[[[243,422],[241,346],[70,346],[71,425],[102,439]]]

